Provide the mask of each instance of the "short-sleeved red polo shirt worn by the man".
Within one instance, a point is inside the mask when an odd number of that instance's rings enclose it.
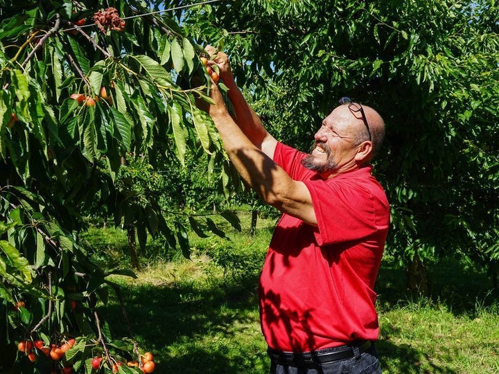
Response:
[[[274,161],[304,181],[317,227],[283,214],[260,278],[261,328],[271,348],[307,352],[378,339],[374,283],[389,206],[371,166],[321,179],[305,154],[278,143]]]

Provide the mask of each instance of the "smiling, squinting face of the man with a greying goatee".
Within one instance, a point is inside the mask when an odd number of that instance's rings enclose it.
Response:
[[[323,175],[348,170],[355,164],[358,132],[358,121],[346,105],[334,109],[315,133],[314,148],[304,166]]]

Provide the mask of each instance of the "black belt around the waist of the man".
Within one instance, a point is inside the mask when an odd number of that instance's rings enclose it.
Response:
[[[268,348],[268,355],[273,362],[280,365],[286,366],[296,366],[296,367],[306,367],[306,368],[317,368],[320,364],[325,364],[326,362],[335,362],[342,359],[351,359],[356,357],[354,348],[358,348],[359,354],[365,352],[371,346],[371,341],[362,341],[359,344],[348,345],[342,348],[333,348],[331,352],[328,352],[328,348],[324,352],[305,352],[305,353],[292,353],[292,352],[281,352],[279,350],[274,350]]]

